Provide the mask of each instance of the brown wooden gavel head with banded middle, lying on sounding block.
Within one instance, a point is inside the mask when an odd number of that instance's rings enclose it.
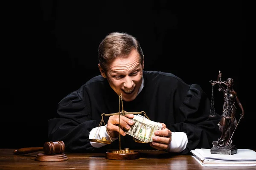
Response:
[[[63,153],[65,151],[65,144],[63,141],[45,142],[44,153],[47,155],[54,153]]]

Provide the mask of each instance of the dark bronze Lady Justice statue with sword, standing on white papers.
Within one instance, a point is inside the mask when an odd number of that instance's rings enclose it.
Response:
[[[227,81],[223,82],[221,81],[221,77],[222,74],[221,71],[219,71],[217,81],[210,81],[212,86],[218,84],[218,91],[222,91],[224,97],[221,120],[218,123],[221,137],[218,138],[218,141],[212,142],[213,147],[211,153],[232,155],[237,153],[236,146],[232,144],[232,138],[239,122],[244,118],[244,108],[239,101],[236,91],[233,89],[233,79],[228,78]],[[226,88],[224,88],[223,85],[226,85]],[[236,102],[242,111],[239,122],[236,121]]]

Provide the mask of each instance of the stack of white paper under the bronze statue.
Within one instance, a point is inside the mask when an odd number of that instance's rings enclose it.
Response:
[[[191,150],[193,158],[202,166],[256,166],[256,152],[238,149],[236,154],[212,154],[210,149]]]

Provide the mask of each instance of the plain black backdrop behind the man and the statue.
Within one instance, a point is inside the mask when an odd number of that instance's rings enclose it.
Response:
[[[234,142],[256,149],[252,60],[246,41],[245,4],[236,2],[17,1],[3,4],[1,148],[42,147],[47,120],[58,102],[99,74],[97,49],[113,31],[137,37],[145,69],[171,72],[199,84],[233,78],[245,110]],[[215,91],[215,111],[222,94]],[[238,107],[237,115],[241,113]]]

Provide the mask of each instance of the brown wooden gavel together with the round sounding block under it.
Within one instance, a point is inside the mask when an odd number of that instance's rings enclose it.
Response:
[[[65,153],[65,144],[63,141],[45,142],[44,147],[26,147],[14,150],[14,154],[27,154],[43,150],[44,153],[38,153],[35,157],[35,161],[67,161]]]

